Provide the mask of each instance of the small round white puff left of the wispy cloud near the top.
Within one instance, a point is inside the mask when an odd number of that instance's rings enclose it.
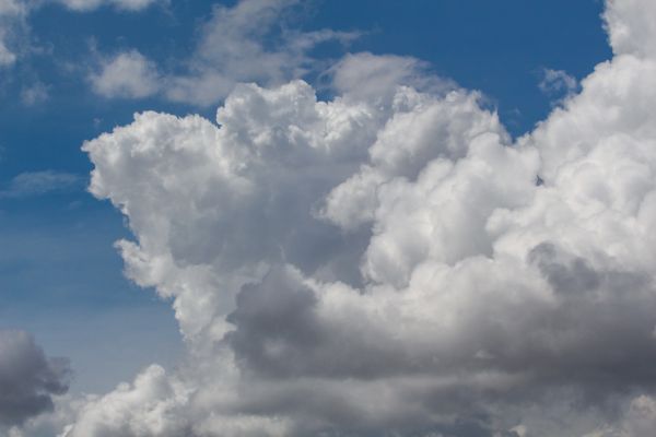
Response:
[[[89,81],[104,97],[142,98],[155,94],[161,86],[156,66],[137,50],[103,60]]]

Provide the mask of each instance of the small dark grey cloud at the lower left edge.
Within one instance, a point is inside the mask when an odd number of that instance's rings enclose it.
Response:
[[[51,411],[69,376],[68,362],[46,357],[27,333],[0,331],[0,426]]]

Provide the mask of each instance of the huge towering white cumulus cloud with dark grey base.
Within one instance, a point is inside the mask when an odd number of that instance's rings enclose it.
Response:
[[[364,54],[330,102],[241,85],[218,123],[85,143],[189,354],[65,436],[653,435],[654,4],[609,1],[614,58],[516,142],[477,93]]]

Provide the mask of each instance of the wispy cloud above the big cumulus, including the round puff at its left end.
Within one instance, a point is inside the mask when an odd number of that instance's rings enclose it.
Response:
[[[328,42],[342,44],[354,33],[298,32],[285,26],[296,0],[242,0],[216,4],[201,26],[199,43],[178,71],[163,71],[136,50],[104,62],[92,78],[93,90],[106,97],[164,98],[197,106],[221,102],[239,82],[282,84],[316,70],[308,52]],[[157,74],[157,70],[162,70]],[[109,86],[98,86],[107,78]]]

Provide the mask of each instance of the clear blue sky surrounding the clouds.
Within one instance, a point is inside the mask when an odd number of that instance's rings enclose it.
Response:
[[[84,13],[46,5],[27,19],[33,52],[0,70],[1,187],[11,190],[25,173],[78,178],[0,199],[0,323],[69,356],[74,390],[107,390],[151,362],[175,363],[180,350],[169,304],[121,274],[113,244],[129,232],[108,202],[85,191],[92,165],[81,144],[136,111],[212,118],[218,106],[98,96],[87,75],[102,54],[128,48],[175,67],[196,46],[212,4],[181,0],[140,12],[103,7]],[[345,51],[424,60],[436,74],[480,90],[519,135],[558,97],[538,86],[544,69],[581,79],[610,58],[601,12],[594,0],[415,0],[402,8],[398,1],[316,1],[295,10],[285,26],[361,33],[345,47],[317,47],[313,56],[326,61]],[[320,85],[318,73],[306,79]],[[26,102],[25,90],[35,84],[45,94]],[[85,371],[98,366],[97,374]]]

